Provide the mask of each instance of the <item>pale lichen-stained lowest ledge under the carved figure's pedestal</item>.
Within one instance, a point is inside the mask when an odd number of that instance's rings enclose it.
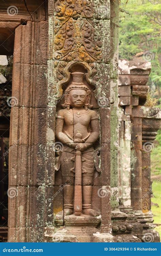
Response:
[[[55,227],[56,228],[56,227]],[[96,227],[54,227],[45,229],[45,242],[117,242],[109,233],[101,233]]]

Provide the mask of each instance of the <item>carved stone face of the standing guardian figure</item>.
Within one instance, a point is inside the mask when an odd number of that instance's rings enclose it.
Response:
[[[87,92],[83,89],[74,89],[69,92],[69,101],[72,107],[82,107],[87,100]]]

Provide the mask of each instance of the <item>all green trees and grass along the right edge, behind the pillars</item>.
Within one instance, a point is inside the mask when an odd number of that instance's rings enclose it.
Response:
[[[150,61],[152,65],[148,85],[150,92],[145,106],[161,108],[161,3],[155,0],[121,0],[119,58]],[[161,130],[151,152],[151,199],[156,230],[161,237]]]

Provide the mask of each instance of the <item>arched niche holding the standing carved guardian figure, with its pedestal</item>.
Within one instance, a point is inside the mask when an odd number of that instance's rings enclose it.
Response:
[[[108,164],[110,167],[110,155],[106,159],[102,155],[104,150],[109,152],[110,132],[101,132],[105,116],[95,97],[96,87],[90,81],[90,73],[86,63],[73,62],[65,68],[66,79],[59,83],[62,96],[56,102],[54,143],[54,192],[58,195],[54,198],[54,226],[58,230],[54,233],[55,228],[46,228],[47,241],[60,238],[64,242],[114,241],[110,224],[110,170],[107,167]],[[84,100],[82,94],[87,94],[88,98],[79,106]],[[76,103],[72,103],[72,95]],[[110,124],[106,129],[110,131]],[[78,135],[85,147],[82,152],[72,146]]]

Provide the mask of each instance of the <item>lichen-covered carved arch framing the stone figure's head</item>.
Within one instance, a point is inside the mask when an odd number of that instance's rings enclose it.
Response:
[[[98,67],[97,63],[86,63],[72,61],[49,61],[48,62],[48,104],[57,105],[61,101],[63,90],[70,82],[71,72],[83,71],[85,73],[84,82],[92,89],[92,99],[95,99],[93,108],[98,108],[97,100],[106,96],[109,98],[108,69],[103,66]],[[108,88],[107,88],[108,87]],[[106,95],[107,94],[107,95]]]

